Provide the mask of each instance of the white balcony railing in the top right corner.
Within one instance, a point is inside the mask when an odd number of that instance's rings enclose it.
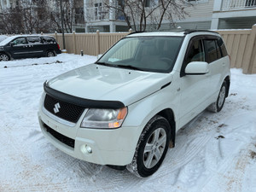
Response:
[[[222,10],[256,8],[256,0],[224,0]]]

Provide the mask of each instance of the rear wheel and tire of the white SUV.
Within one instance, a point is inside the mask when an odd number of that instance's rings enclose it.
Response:
[[[226,81],[224,81],[223,84],[221,85],[220,90],[219,90],[217,101],[213,102],[207,108],[208,111],[211,111],[211,112],[214,112],[214,113],[217,113],[217,112],[221,111],[221,109],[224,106],[227,89],[228,89],[227,83],[226,83]]]

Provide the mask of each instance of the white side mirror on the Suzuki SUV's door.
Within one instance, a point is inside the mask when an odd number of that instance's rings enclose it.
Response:
[[[203,75],[209,73],[209,64],[203,61],[189,62],[185,68],[187,75]]]

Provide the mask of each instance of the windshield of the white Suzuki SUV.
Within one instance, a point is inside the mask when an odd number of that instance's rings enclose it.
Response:
[[[96,63],[110,67],[169,73],[182,42],[183,37],[123,38]]]

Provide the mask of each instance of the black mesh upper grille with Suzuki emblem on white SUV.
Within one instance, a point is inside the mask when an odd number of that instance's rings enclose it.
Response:
[[[56,107],[57,103],[59,104]],[[73,105],[69,102],[62,102],[61,100],[55,99],[48,94],[46,94],[44,99],[44,108],[46,108],[50,113],[53,113],[55,116],[73,123],[76,123],[81,114],[84,112],[83,107]],[[55,113],[56,109],[58,110],[57,113]]]

